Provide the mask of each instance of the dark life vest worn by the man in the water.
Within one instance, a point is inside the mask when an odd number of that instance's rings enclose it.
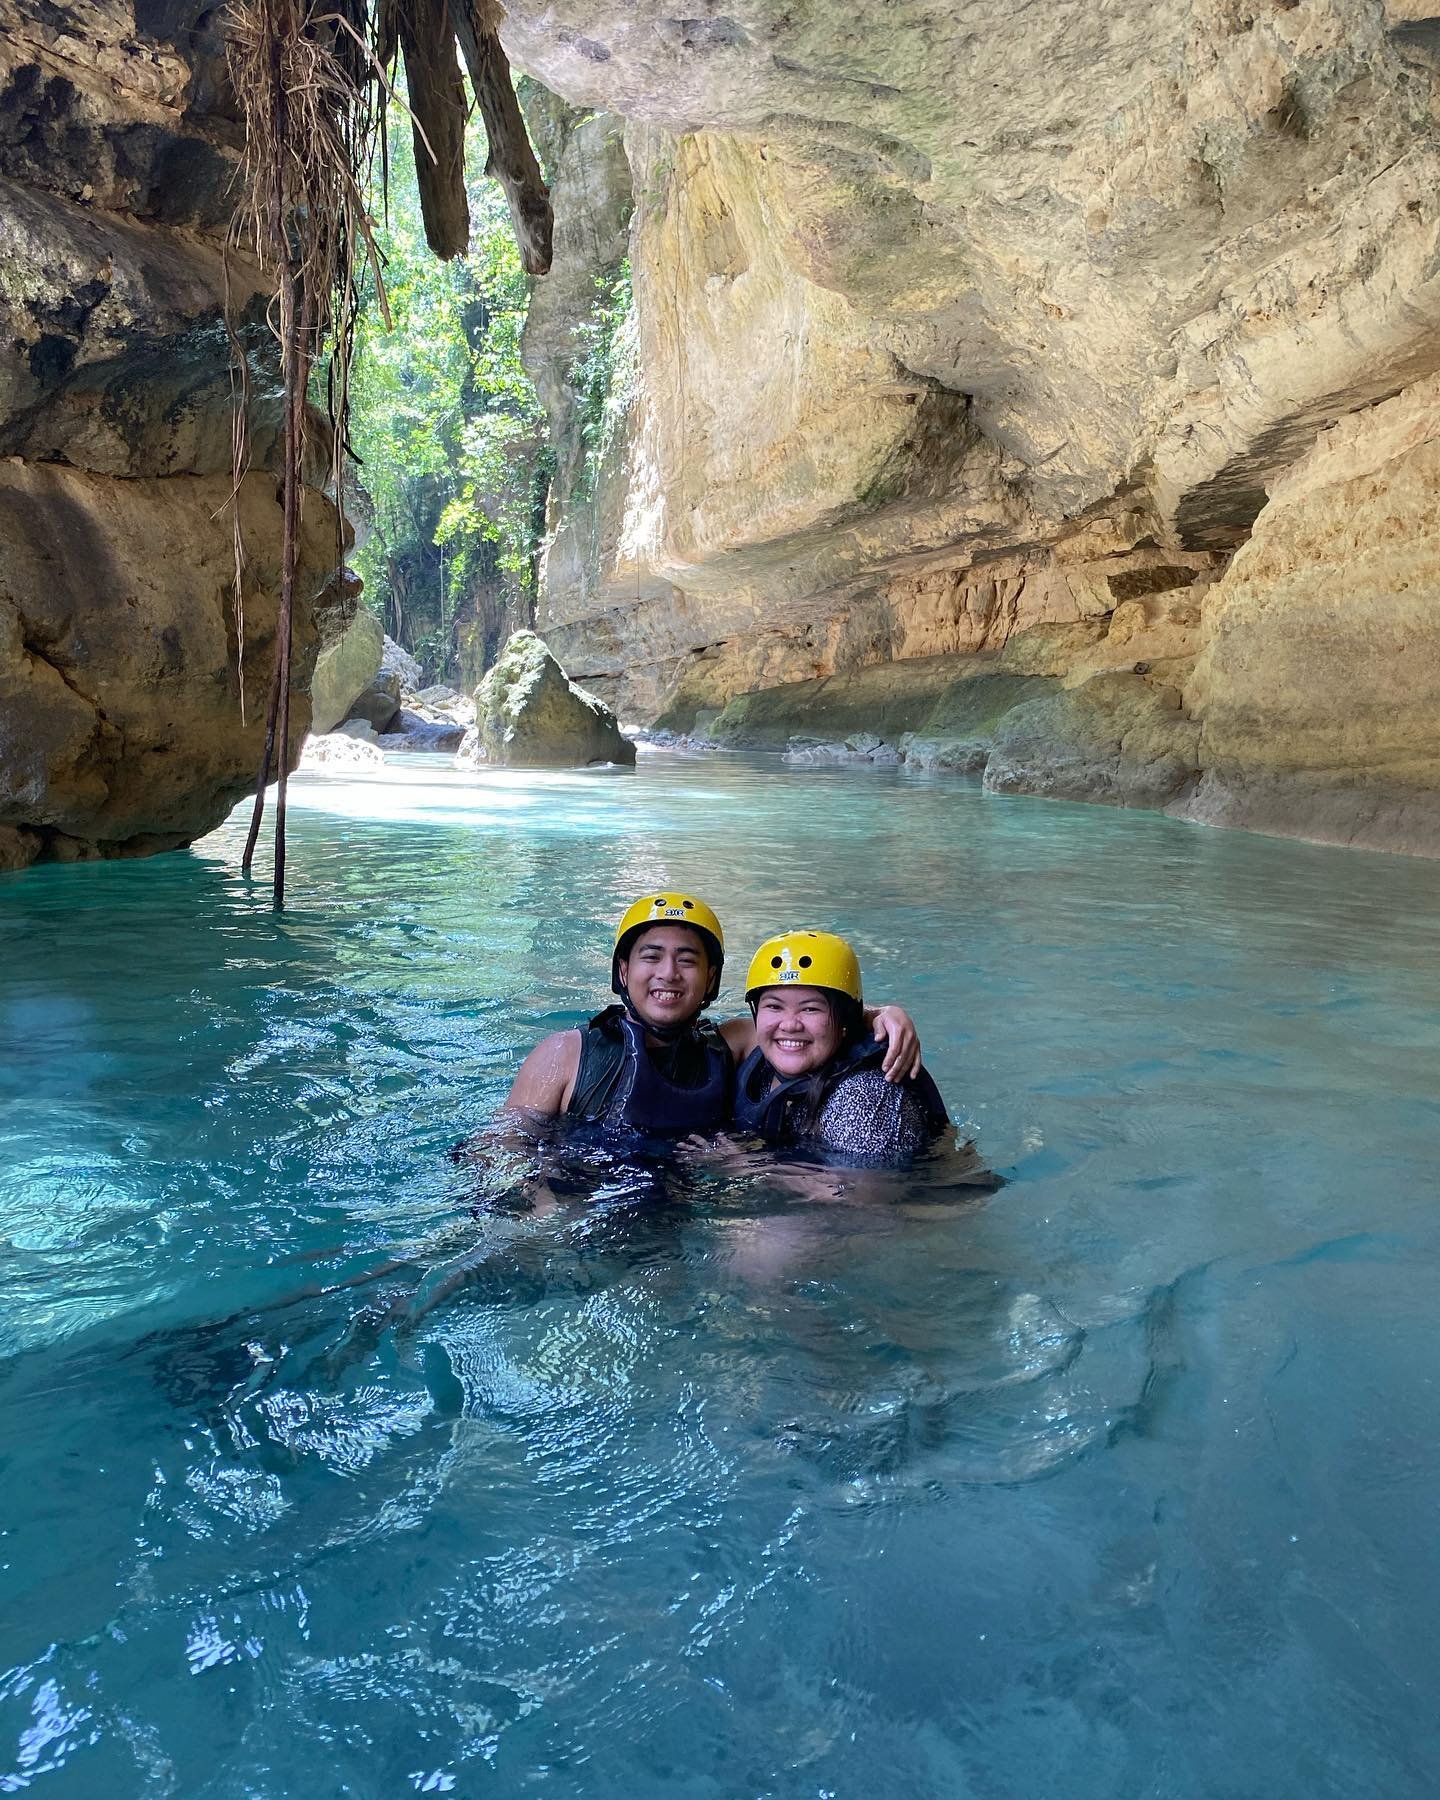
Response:
[[[625,1127],[646,1138],[686,1138],[724,1130],[734,1094],[734,1057],[709,1019],[662,1051],[662,1067],[644,1042],[644,1026],[623,1006],[607,1006],[585,1026],[580,1067],[565,1116]]]

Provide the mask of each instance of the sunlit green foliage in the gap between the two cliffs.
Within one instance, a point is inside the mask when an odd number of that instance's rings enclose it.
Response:
[[[376,232],[391,329],[369,284],[351,378],[351,448],[371,535],[355,553],[365,603],[430,675],[454,670],[457,617],[484,596],[531,605],[549,450],[520,362],[529,283],[509,211],[470,131],[470,254],[425,243],[410,122],[391,108],[389,205]],[[380,211],[376,202],[376,211]],[[536,504],[538,486],[538,504]]]

